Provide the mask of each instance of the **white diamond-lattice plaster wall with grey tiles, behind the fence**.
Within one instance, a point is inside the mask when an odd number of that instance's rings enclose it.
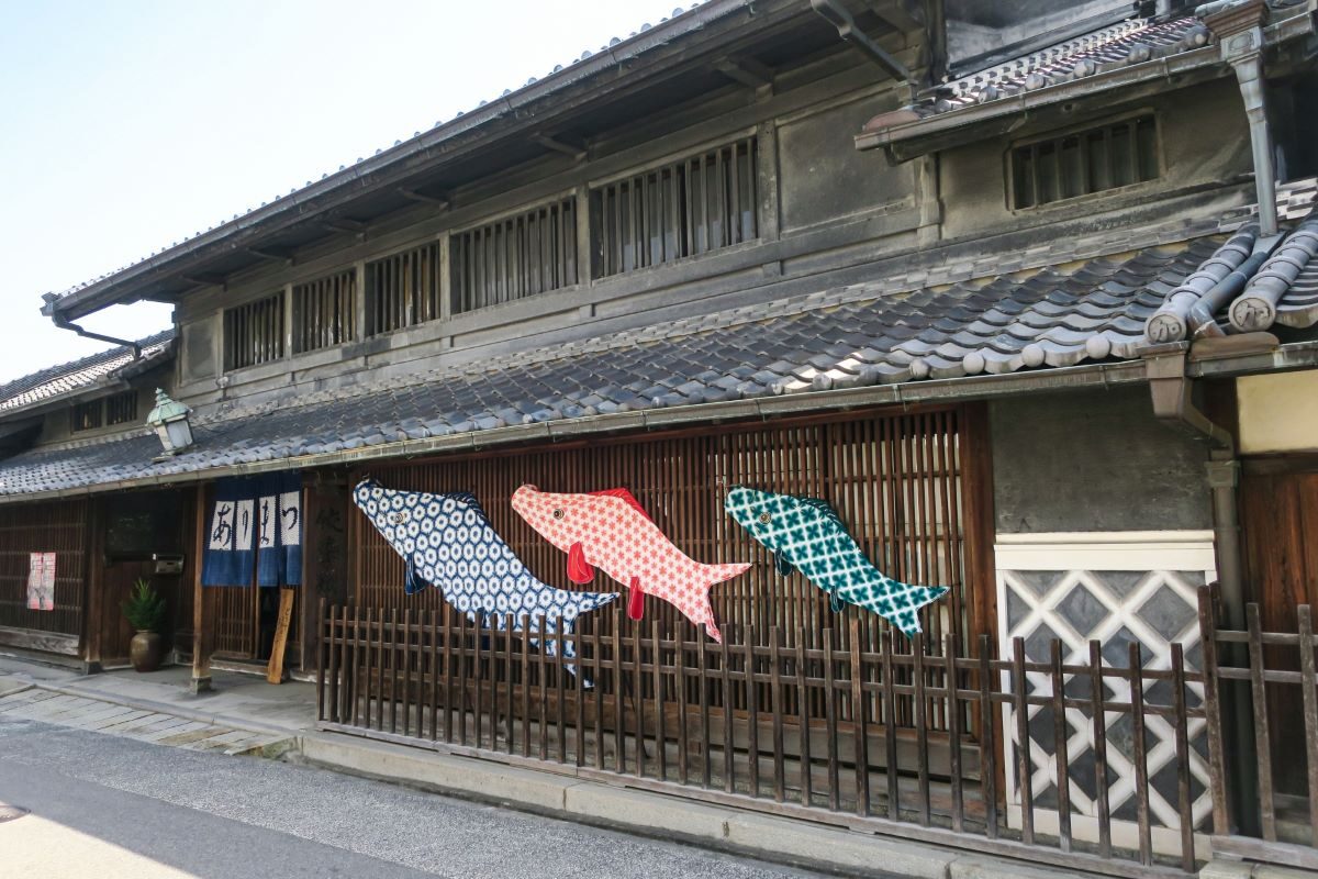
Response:
[[[999,535],[998,633],[999,655],[1012,655],[1012,640],[1024,639],[1031,662],[1048,662],[1053,638],[1062,642],[1062,662],[1089,662],[1089,642],[1102,644],[1108,666],[1126,668],[1131,643],[1140,646],[1145,668],[1170,667],[1170,644],[1185,648],[1186,664],[1199,666],[1197,589],[1215,577],[1213,535],[1207,531],[1085,532]],[[1027,673],[1031,695],[1050,696],[1046,675]],[[1130,701],[1130,684],[1104,679],[1106,698]],[[1003,685],[1008,685],[1004,675]],[[1087,698],[1089,681],[1066,677],[1069,696]],[[1073,692],[1073,687],[1077,691]],[[1147,700],[1159,701],[1155,687],[1169,689],[1165,681],[1147,681]],[[1197,685],[1189,688],[1191,705],[1202,698]],[[1072,830],[1077,838],[1098,838],[1093,723],[1078,709],[1066,710],[1070,766]],[[1147,717],[1149,812],[1155,849],[1178,850],[1180,820],[1176,808],[1176,742],[1172,725],[1156,716]],[[1049,706],[1029,709],[1029,764],[1035,796],[1035,826],[1056,833],[1057,759],[1053,752],[1053,717]],[[1020,788],[1015,749],[1020,747],[1016,720],[1010,706],[1003,710],[1003,730],[1011,750],[1004,770],[1008,792],[1008,821],[1020,826]],[[1209,770],[1202,756],[1203,721],[1191,721],[1190,775],[1195,826],[1207,817],[1211,803]],[[1137,845],[1135,817],[1135,766],[1130,749],[1130,716],[1107,714],[1108,800],[1114,817],[1112,841],[1123,847]]]

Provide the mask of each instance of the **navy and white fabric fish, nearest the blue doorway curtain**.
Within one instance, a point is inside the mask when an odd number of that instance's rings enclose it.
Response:
[[[364,480],[352,499],[407,563],[407,594],[432,584],[448,604],[473,618],[480,614],[485,625],[502,629],[505,614],[511,614],[519,631],[525,614],[532,626],[544,618],[546,631],[558,631],[561,619],[563,631],[571,634],[577,617],[618,597],[617,592],[568,592],[536,580],[467,492],[394,492]]]

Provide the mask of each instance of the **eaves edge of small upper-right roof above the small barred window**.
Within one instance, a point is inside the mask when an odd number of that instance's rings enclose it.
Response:
[[[1292,16],[1269,25],[1265,41],[1269,46],[1288,42],[1314,33],[1313,16]],[[950,145],[969,140],[975,129],[1014,128],[1016,120],[1045,107],[1085,99],[1118,88],[1131,88],[1156,82],[1190,84],[1197,80],[1226,76],[1231,67],[1222,59],[1218,45],[1207,45],[1174,55],[1164,55],[1140,65],[1116,67],[1083,79],[1045,86],[1035,91],[1021,91],[996,100],[963,107],[942,113],[934,113],[909,123],[891,125],[875,132],[862,132],[855,136],[858,150],[883,149],[896,162],[904,162],[925,156]]]

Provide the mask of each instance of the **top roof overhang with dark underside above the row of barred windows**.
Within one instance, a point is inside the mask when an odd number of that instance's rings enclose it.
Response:
[[[876,5],[894,3],[902,5]],[[873,21],[887,26],[884,18]],[[572,161],[564,153],[580,145],[555,138],[598,108],[697,72],[737,86],[737,59],[757,46],[800,46],[808,58],[818,46],[837,45],[837,34],[803,0],[708,0],[158,254],[63,295],[47,294],[42,314],[76,320],[116,303],[173,302],[262,261],[290,262],[294,249],[307,246],[312,236],[319,244],[335,235],[361,235],[368,221],[422,203],[444,210],[449,194],[438,175],[464,161],[493,161],[486,157],[496,146]]]

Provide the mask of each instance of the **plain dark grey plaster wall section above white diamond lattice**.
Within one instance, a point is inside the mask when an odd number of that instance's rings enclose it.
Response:
[[[1143,387],[998,401],[990,430],[999,535],[1213,526],[1206,447]]]

